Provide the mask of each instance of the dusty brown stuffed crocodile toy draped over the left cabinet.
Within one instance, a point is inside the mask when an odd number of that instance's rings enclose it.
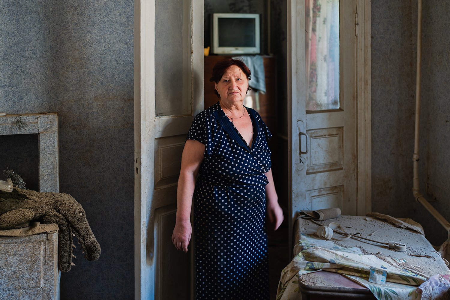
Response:
[[[26,227],[31,222],[56,223],[58,265],[68,272],[72,265],[72,235],[78,238],[85,259],[98,260],[100,245],[86,219],[85,211],[66,193],[40,193],[14,187],[10,193],[0,191],[0,230]]]

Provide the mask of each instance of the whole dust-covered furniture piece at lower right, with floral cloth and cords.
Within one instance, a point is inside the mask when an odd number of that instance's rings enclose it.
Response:
[[[318,237],[320,226],[334,226],[353,237],[336,232],[337,240]],[[410,219],[377,213],[326,221],[299,216],[294,231],[294,258],[281,273],[277,300],[415,300],[449,291],[448,262]]]

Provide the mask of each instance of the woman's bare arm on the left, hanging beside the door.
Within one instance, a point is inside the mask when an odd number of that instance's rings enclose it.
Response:
[[[172,242],[178,250],[188,251],[191,239],[191,207],[192,197],[195,189],[195,179],[203,161],[205,145],[188,139],[184,144],[181,155],[181,170],[178,179],[178,189],[176,193],[176,222],[173,229]]]

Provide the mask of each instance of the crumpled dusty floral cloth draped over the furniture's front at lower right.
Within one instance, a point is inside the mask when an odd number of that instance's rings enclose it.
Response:
[[[381,214],[380,214],[381,215]],[[383,216],[383,215],[381,215]],[[360,218],[363,220],[364,217],[351,217],[351,216],[343,216],[341,219],[336,220],[336,222],[344,222],[345,219],[352,219],[350,223],[361,224],[361,222],[354,222],[355,218]],[[375,216],[371,216],[371,218],[375,218]],[[394,219],[394,218],[392,218]],[[316,237],[314,233],[311,232],[311,222],[303,219],[297,219],[295,226],[295,234],[296,234],[296,245],[294,246],[294,254],[297,254],[291,263],[283,269],[281,273],[281,278],[279,282],[279,287],[277,291],[277,300],[297,300],[301,299],[300,291],[299,291],[299,280],[301,280],[301,276],[306,273],[317,272],[320,270],[330,271],[341,273],[342,275],[350,278],[351,280],[358,282],[359,284],[367,287],[378,300],[419,300],[419,299],[432,299],[427,298],[426,295],[430,293],[434,293],[434,287],[436,286],[435,276],[432,277],[433,272],[439,272],[441,275],[438,275],[438,279],[440,283],[441,290],[445,289],[447,285],[450,285],[450,282],[446,282],[448,280],[447,275],[450,274],[450,271],[445,267],[445,264],[442,262],[439,264],[440,268],[434,269],[436,264],[427,264],[428,260],[435,259],[437,253],[430,254],[429,251],[434,251],[429,245],[427,248],[427,252],[423,253],[425,257],[429,258],[421,258],[424,260],[421,264],[424,268],[431,271],[430,267],[434,270],[432,272],[423,272],[423,269],[416,268],[411,269],[409,264],[406,263],[406,260],[412,260],[414,257],[414,251],[411,248],[412,244],[408,244],[407,252],[396,252],[393,250],[384,249],[386,246],[380,246],[379,251],[386,252],[388,251],[389,255],[378,254],[375,250],[374,252],[368,254],[368,251],[363,251],[361,249],[365,248],[368,245],[364,245],[363,243],[353,242],[356,246],[343,246],[345,243],[350,242],[333,242],[329,240],[324,240],[319,237]],[[384,221],[384,220],[383,220]],[[407,225],[401,223],[400,220],[397,220],[398,224],[401,226],[410,228]],[[364,222],[367,222],[367,227],[369,229],[369,233],[374,231],[374,227],[369,227],[369,225],[374,225],[374,222],[383,223],[381,221],[375,221],[374,219],[366,219],[364,218]],[[326,222],[324,222],[325,224]],[[342,223],[344,224],[344,223]],[[314,225],[314,224],[312,224]],[[314,225],[316,226],[316,225]],[[351,230],[363,230],[365,228],[361,228],[361,225],[356,228],[351,228]],[[375,226],[375,225],[374,225]],[[393,224],[393,226],[396,226]],[[413,225],[414,226],[414,225]],[[364,225],[363,225],[364,227]],[[396,226],[397,227],[397,226]],[[419,226],[414,226],[420,228]],[[375,227],[376,228],[376,227]],[[393,229],[389,232],[392,233],[394,231],[401,231],[403,229]],[[368,230],[368,229],[365,229]],[[420,230],[415,230],[420,233]],[[306,234],[305,232],[308,232]],[[406,233],[406,232],[405,232]],[[410,235],[413,237],[417,237],[417,241],[421,239],[425,240],[421,234],[411,232]],[[408,235],[408,233],[406,233]],[[369,234],[367,234],[369,236]],[[421,238],[419,238],[421,237]],[[381,240],[391,238],[391,236],[383,236],[379,237]],[[395,237],[394,237],[395,239]],[[410,241],[416,241],[410,240]],[[425,240],[426,241],[426,240]],[[384,247],[384,248],[383,248]],[[378,249],[378,248],[377,248]],[[414,250],[414,249],[413,249]],[[374,255],[377,254],[377,255]],[[413,255],[413,256],[407,256]],[[430,256],[427,256],[430,255]],[[419,255],[420,256],[420,255]],[[432,267],[434,266],[434,267]],[[384,285],[375,284],[373,282],[368,281],[370,267],[375,267],[376,269],[386,270],[387,278],[386,283]],[[428,274],[427,274],[428,273]],[[434,273],[434,274],[436,274]],[[433,280],[434,281],[433,281]],[[444,282],[444,283],[442,283]],[[439,293],[442,293],[442,291]],[[422,294],[422,295],[421,295]],[[421,298],[422,297],[422,298]]]

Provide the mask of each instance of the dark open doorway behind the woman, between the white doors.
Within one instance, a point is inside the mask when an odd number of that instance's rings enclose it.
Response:
[[[225,58],[242,57],[248,54],[216,54],[214,49],[213,14],[239,13],[259,15],[260,55],[264,62],[265,90],[253,89],[247,94],[244,105],[257,110],[269,127],[272,138],[269,147],[272,152],[272,172],[278,201],[284,210],[284,222],[275,232],[268,232],[270,299],[275,299],[279,277],[282,269],[289,263],[288,249],[288,122],[287,122],[287,34],[286,34],[286,0],[266,1],[204,1],[204,40],[209,55],[205,56],[205,109],[215,104],[218,99],[214,85],[209,81],[212,67]],[[252,79],[255,79],[252,76]]]

